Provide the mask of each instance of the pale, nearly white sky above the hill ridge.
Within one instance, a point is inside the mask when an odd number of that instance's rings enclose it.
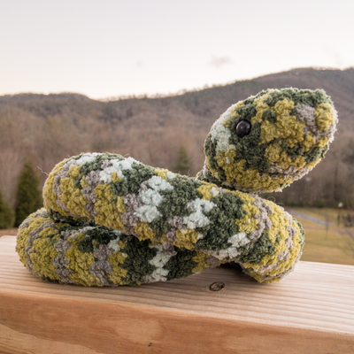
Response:
[[[354,2],[0,0],[0,96],[172,95],[354,66]]]

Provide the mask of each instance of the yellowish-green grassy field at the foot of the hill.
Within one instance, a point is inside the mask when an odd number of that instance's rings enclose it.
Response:
[[[287,209],[287,208],[286,208]],[[337,225],[338,210],[317,208],[291,208],[331,225],[320,226],[303,218],[305,245],[302,260],[354,266],[354,227]],[[289,210],[291,213],[291,210]],[[344,211],[341,211],[344,212]],[[17,235],[17,229],[0,230],[1,235]]]

